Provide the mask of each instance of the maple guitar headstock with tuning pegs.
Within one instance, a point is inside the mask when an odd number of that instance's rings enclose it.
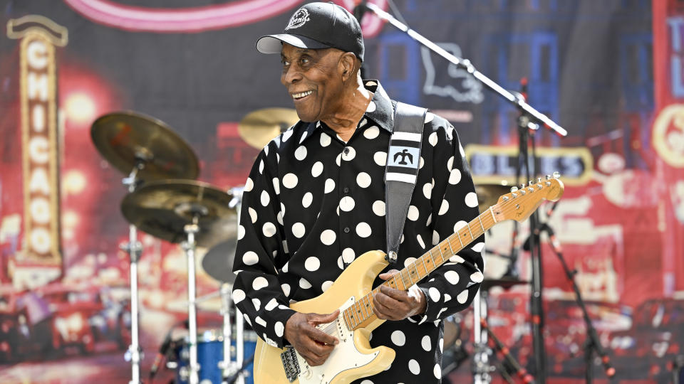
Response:
[[[503,220],[523,221],[529,218],[544,200],[556,201],[561,198],[565,186],[559,177],[560,174],[554,172],[553,176],[546,175],[546,180],[537,178],[536,183],[529,181],[520,187],[511,188],[511,192],[501,196],[497,205],[492,207],[497,222]]]

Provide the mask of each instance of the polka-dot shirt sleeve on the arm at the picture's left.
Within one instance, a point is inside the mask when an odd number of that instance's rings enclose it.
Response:
[[[269,147],[270,146],[270,147]],[[264,147],[244,186],[233,270],[233,302],[244,319],[271,346],[284,346],[287,320],[294,314],[278,270],[286,260],[279,202],[276,146]],[[270,154],[269,154],[270,151]]]

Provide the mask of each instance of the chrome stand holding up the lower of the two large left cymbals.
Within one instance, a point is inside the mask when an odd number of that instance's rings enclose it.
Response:
[[[197,363],[197,302],[195,300],[195,235],[199,232],[199,215],[206,214],[207,208],[202,206],[190,207],[192,224],[187,224],[183,231],[187,235],[187,240],[182,243],[182,248],[187,257],[187,328],[190,336],[188,353],[190,364],[188,366],[188,383],[199,383],[199,364]]]

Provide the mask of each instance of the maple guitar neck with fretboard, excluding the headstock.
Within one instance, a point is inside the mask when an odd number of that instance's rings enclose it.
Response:
[[[463,260],[457,255],[457,252],[499,222],[497,220],[499,212],[495,215],[495,208],[497,206],[489,207],[489,209],[480,213],[477,218],[463,225],[462,228],[442,240],[435,247],[432,247],[432,249],[425,252],[418,259],[410,262],[403,270],[400,270],[399,273],[383,284],[380,284],[380,286],[385,285],[395,289],[407,290],[445,262],[449,260],[462,262]],[[361,297],[361,299],[343,311],[343,316],[349,329],[359,329],[368,325],[368,322],[374,319],[373,295],[378,292],[380,292],[380,287],[375,287],[366,296]]]

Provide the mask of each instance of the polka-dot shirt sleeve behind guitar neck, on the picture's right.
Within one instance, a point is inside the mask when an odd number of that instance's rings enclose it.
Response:
[[[440,125],[437,120],[443,121]],[[470,168],[455,129],[435,117],[428,144],[434,143],[432,205],[432,245],[444,240],[480,214]],[[423,144],[425,145],[425,143]],[[444,265],[430,273],[418,287],[425,294],[427,309],[413,320],[438,321],[470,306],[484,279],[484,234],[465,245]]]

